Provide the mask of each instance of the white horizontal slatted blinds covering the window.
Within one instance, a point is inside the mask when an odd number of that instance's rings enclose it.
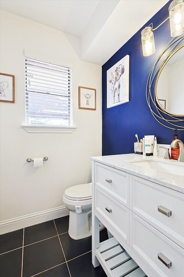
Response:
[[[73,126],[72,68],[26,57],[26,125]]]

